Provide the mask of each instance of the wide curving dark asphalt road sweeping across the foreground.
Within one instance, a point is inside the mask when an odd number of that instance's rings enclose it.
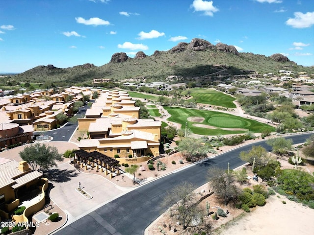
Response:
[[[288,138],[297,144],[305,142],[312,134],[294,135]],[[182,181],[189,181],[195,184],[196,188],[204,185],[208,182],[210,167],[227,168],[227,164],[230,163],[230,168],[234,169],[244,164],[238,158],[239,153],[250,150],[253,145],[262,145],[268,151],[271,150],[265,141],[260,141],[222,153],[136,188],[78,219],[56,234],[143,235],[146,227],[166,210],[160,207],[160,202],[169,189]]]

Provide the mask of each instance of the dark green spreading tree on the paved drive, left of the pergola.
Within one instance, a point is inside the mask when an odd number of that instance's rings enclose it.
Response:
[[[19,152],[20,157],[26,161],[33,170],[44,171],[57,166],[56,161],[62,161],[61,154],[54,146],[35,143],[27,145]]]

